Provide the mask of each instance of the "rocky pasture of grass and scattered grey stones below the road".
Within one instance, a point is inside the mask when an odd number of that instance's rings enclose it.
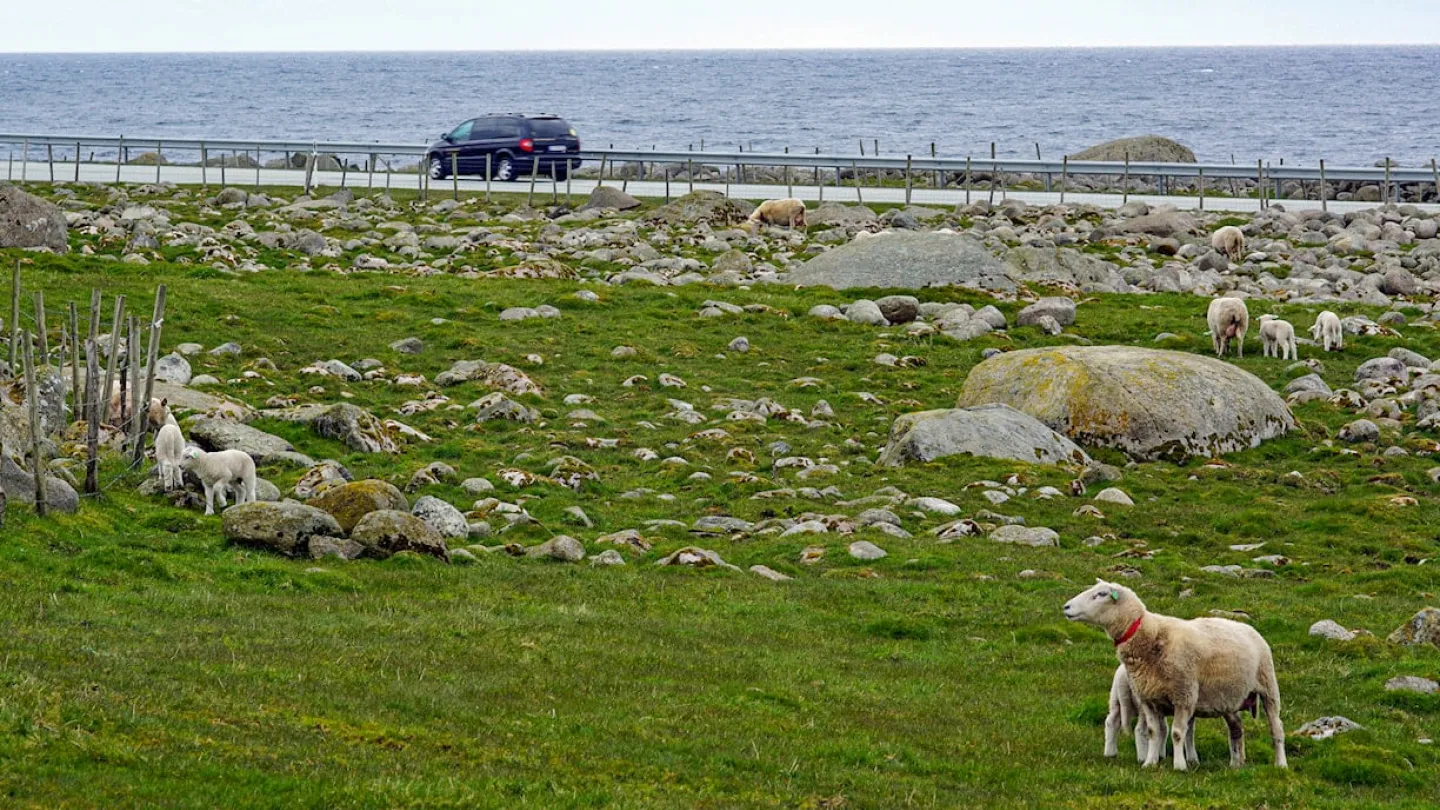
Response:
[[[1066,804],[1077,784],[1125,804],[1156,781],[1195,806],[1426,801],[1417,774],[1440,764],[1440,614],[1424,613],[1440,585],[1437,218],[829,203],[792,231],[704,193],[660,206],[605,189],[572,210],[29,190],[58,209],[26,199],[27,216],[50,212],[68,232],[0,231],[52,251],[3,252],[26,262],[27,288],[53,306],[92,287],[147,301],[166,282],[160,395],[192,441],[246,451],[265,479],[264,503],[207,519],[194,481],[163,493],[148,464],[107,457],[104,497],[82,502],[69,373],[52,370],[49,493],[73,515],[36,520],[16,506],[33,493],[17,464],[22,396],[0,398],[19,538],[0,569],[30,581],[9,598],[13,637],[33,641],[7,647],[24,687],[4,708],[20,731],[0,745],[24,765],[9,787],[33,803],[65,796],[36,778],[66,744],[50,693],[124,773],[203,755],[180,744],[187,700],[204,722],[238,722],[248,731],[220,732],[232,797],[279,778],[243,752],[259,747],[420,774],[379,787],[396,801],[513,787],[511,806],[544,806],[544,755],[504,754],[520,745],[569,762],[550,774],[562,804],[583,803],[570,791],[592,770],[608,774],[598,803],[625,806],[896,806],[907,791],[950,806],[976,790]],[[1221,225],[1247,233],[1243,261],[1210,249]],[[1243,360],[1207,359],[1217,294],[1300,334],[1335,310],[1345,349],[1302,340],[1299,362],[1261,357],[1254,323]],[[1293,774],[1257,765],[1248,780],[1221,767],[1208,725],[1211,767],[1195,780],[1102,761],[1113,659],[1058,615],[1096,575],[1155,610],[1256,623],[1276,646],[1287,728],[1326,718],[1306,736],[1339,736],[1297,739]],[[23,607],[56,591],[59,620]],[[354,613],[317,618],[337,600]],[[372,624],[396,600],[403,638]],[[127,630],[157,604],[174,617],[156,617],[153,638]],[[187,636],[187,613],[235,641]],[[171,664],[150,670],[174,682],[158,687],[101,666],[101,689],[150,705],[147,742],[78,696],[58,664],[82,654],[66,623],[98,623],[95,656],[148,660],[180,643],[233,695]],[[387,651],[416,666],[402,677]],[[477,654],[510,685],[485,700],[465,686]],[[387,666],[403,686],[366,683]],[[281,695],[301,672],[337,686]],[[531,679],[552,685],[544,696]],[[376,689],[393,712],[377,712]],[[239,700],[279,700],[284,716]],[[536,728],[541,705],[626,739],[631,764],[596,758],[593,731]],[[681,745],[687,705],[734,719]],[[635,719],[655,715],[665,731]],[[487,751],[446,716],[487,729]],[[344,731],[282,739],[317,724]],[[740,738],[762,731],[812,764],[750,754]],[[1264,762],[1267,744],[1251,736],[1250,757]],[[439,787],[446,762],[482,762],[478,781]],[[524,778],[504,787],[507,767]],[[301,773],[374,787],[348,768]],[[674,791],[639,787],[664,783]],[[171,796],[143,787],[130,796]]]

